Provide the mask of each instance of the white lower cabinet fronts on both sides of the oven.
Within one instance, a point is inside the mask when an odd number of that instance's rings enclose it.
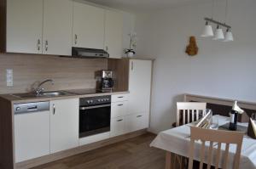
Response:
[[[149,113],[129,113],[127,95],[115,95],[113,100],[110,132],[80,139],[79,99],[53,100],[49,111],[15,115],[15,162],[148,128]]]

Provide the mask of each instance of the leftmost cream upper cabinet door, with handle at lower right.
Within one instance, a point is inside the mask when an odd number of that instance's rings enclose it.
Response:
[[[42,54],[43,0],[7,1],[6,51]]]

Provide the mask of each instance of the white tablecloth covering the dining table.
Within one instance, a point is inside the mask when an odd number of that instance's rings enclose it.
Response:
[[[219,126],[224,125],[229,122],[229,118],[221,115],[218,116]],[[247,125],[244,123],[239,123],[239,125]],[[183,155],[189,157],[189,144],[190,144],[190,128],[189,125],[183,125],[180,127],[175,127],[164,132],[160,132],[150,146],[164,149],[166,151],[175,153],[177,155]],[[199,160],[200,155],[200,143],[195,144],[195,160]],[[221,148],[224,152],[224,146]],[[214,151],[216,153],[216,151]],[[230,145],[230,155],[229,158],[232,158],[236,153],[236,145]],[[212,162],[215,161],[213,155]],[[207,156],[206,156],[207,161]],[[230,162],[232,162],[230,161]],[[232,168],[232,164],[228,164],[229,168]],[[245,136],[243,138],[241,146],[241,169],[255,169],[256,168],[256,140]]]

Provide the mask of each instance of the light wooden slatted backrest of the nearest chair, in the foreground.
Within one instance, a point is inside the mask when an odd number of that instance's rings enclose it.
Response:
[[[193,168],[193,160],[195,154],[195,140],[201,140],[201,150],[200,150],[200,169],[202,169],[205,157],[206,142],[210,142],[209,148],[207,149],[207,169],[211,168],[211,164],[214,164],[215,169],[218,168],[220,162],[221,154],[221,144],[225,144],[224,155],[221,159],[224,159],[222,164],[223,169],[227,168],[229,163],[229,149],[230,144],[236,144],[236,155],[234,156],[233,167],[234,169],[239,168],[240,155],[241,155],[241,144],[244,132],[230,132],[230,131],[221,131],[221,130],[210,130],[200,127],[190,127],[191,138],[190,138],[190,149],[189,149],[189,169]],[[213,143],[218,144],[217,155],[215,156],[216,160],[212,162],[212,149]],[[217,145],[216,144],[216,145]]]

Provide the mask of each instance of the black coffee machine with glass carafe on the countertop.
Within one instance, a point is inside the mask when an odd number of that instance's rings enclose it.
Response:
[[[100,91],[112,92],[113,90],[113,71],[102,70],[102,81]]]

